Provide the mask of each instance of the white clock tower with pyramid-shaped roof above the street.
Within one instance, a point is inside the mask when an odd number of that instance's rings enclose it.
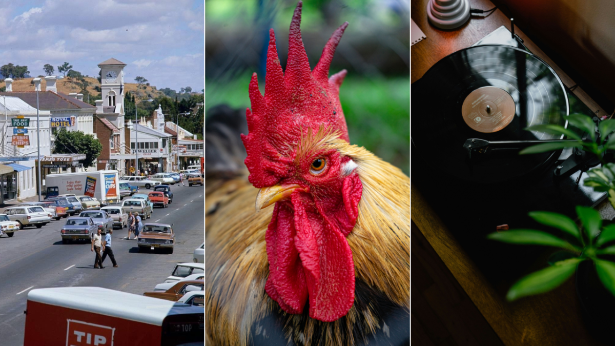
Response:
[[[97,116],[105,118],[117,129],[119,129],[119,148],[115,147],[109,155],[109,164],[106,169],[117,169],[124,172],[125,158],[122,156],[130,154],[130,149],[126,145],[124,134],[124,67],[125,63],[110,58],[98,64],[100,67],[100,94],[102,102],[97,101]],[[100,105],[100,103],[102,103]],[[112,140],[113,141],[113,140]],[[103,143],[106,145],[106,143]],[[114,158],[115,156],[115,158]]]

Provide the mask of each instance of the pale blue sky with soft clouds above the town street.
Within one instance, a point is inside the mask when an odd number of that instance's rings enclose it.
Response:
[[[0,0],[0,65],[31,76],[63,62],[98,76],[98,63],[124,62],[124,81],[157,89],[204,89],[204,0]]]

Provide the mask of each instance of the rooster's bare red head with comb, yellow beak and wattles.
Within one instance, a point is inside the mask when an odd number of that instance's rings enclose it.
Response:
[[[349,142],[339,103],[346,71],[328,78],[348,23],[333,33],[311,71],[301,40],[301,5],[290,23],[285,71],[269,31],[265,92],[260,94],[253,74],[249,134],[242,140],[248,179],[261,189],[257,211],[275,203],[266,232],[265,291],[287,313],[302,313],[309,299],[311,318],[335,321],[354,302],[354,262],[346,236],[357,220],[363,189],[357,164],[331,145]]]

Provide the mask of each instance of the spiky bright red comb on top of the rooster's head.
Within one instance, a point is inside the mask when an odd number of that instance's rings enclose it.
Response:
[[[258,90],[258,78],[252,74],[249,94],[252,111],[246,110],[248,135],[242,135],[247,151],[245,165],[250,182],[256,188],[275,185],[287,177],[293,158],[288,145],[299,142],[301,129],[317,132],[320,126],[337,131],[349,141],[346,119],[339,103],[339,86],[346,70],[328,78],[329,66],[348,23],[333,33],[314,71],[301,41],[301,6],[295,8],[288,33],[288,61],[282,71],[277,56],[276,36],[269,30],[265,94]]]

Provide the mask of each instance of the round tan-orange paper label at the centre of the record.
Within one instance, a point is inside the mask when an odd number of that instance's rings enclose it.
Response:
[[[515,116],[515,101],[499,87],[479,87],[467,95],[461,106],[467,126],[483,133],[504,129]]]

